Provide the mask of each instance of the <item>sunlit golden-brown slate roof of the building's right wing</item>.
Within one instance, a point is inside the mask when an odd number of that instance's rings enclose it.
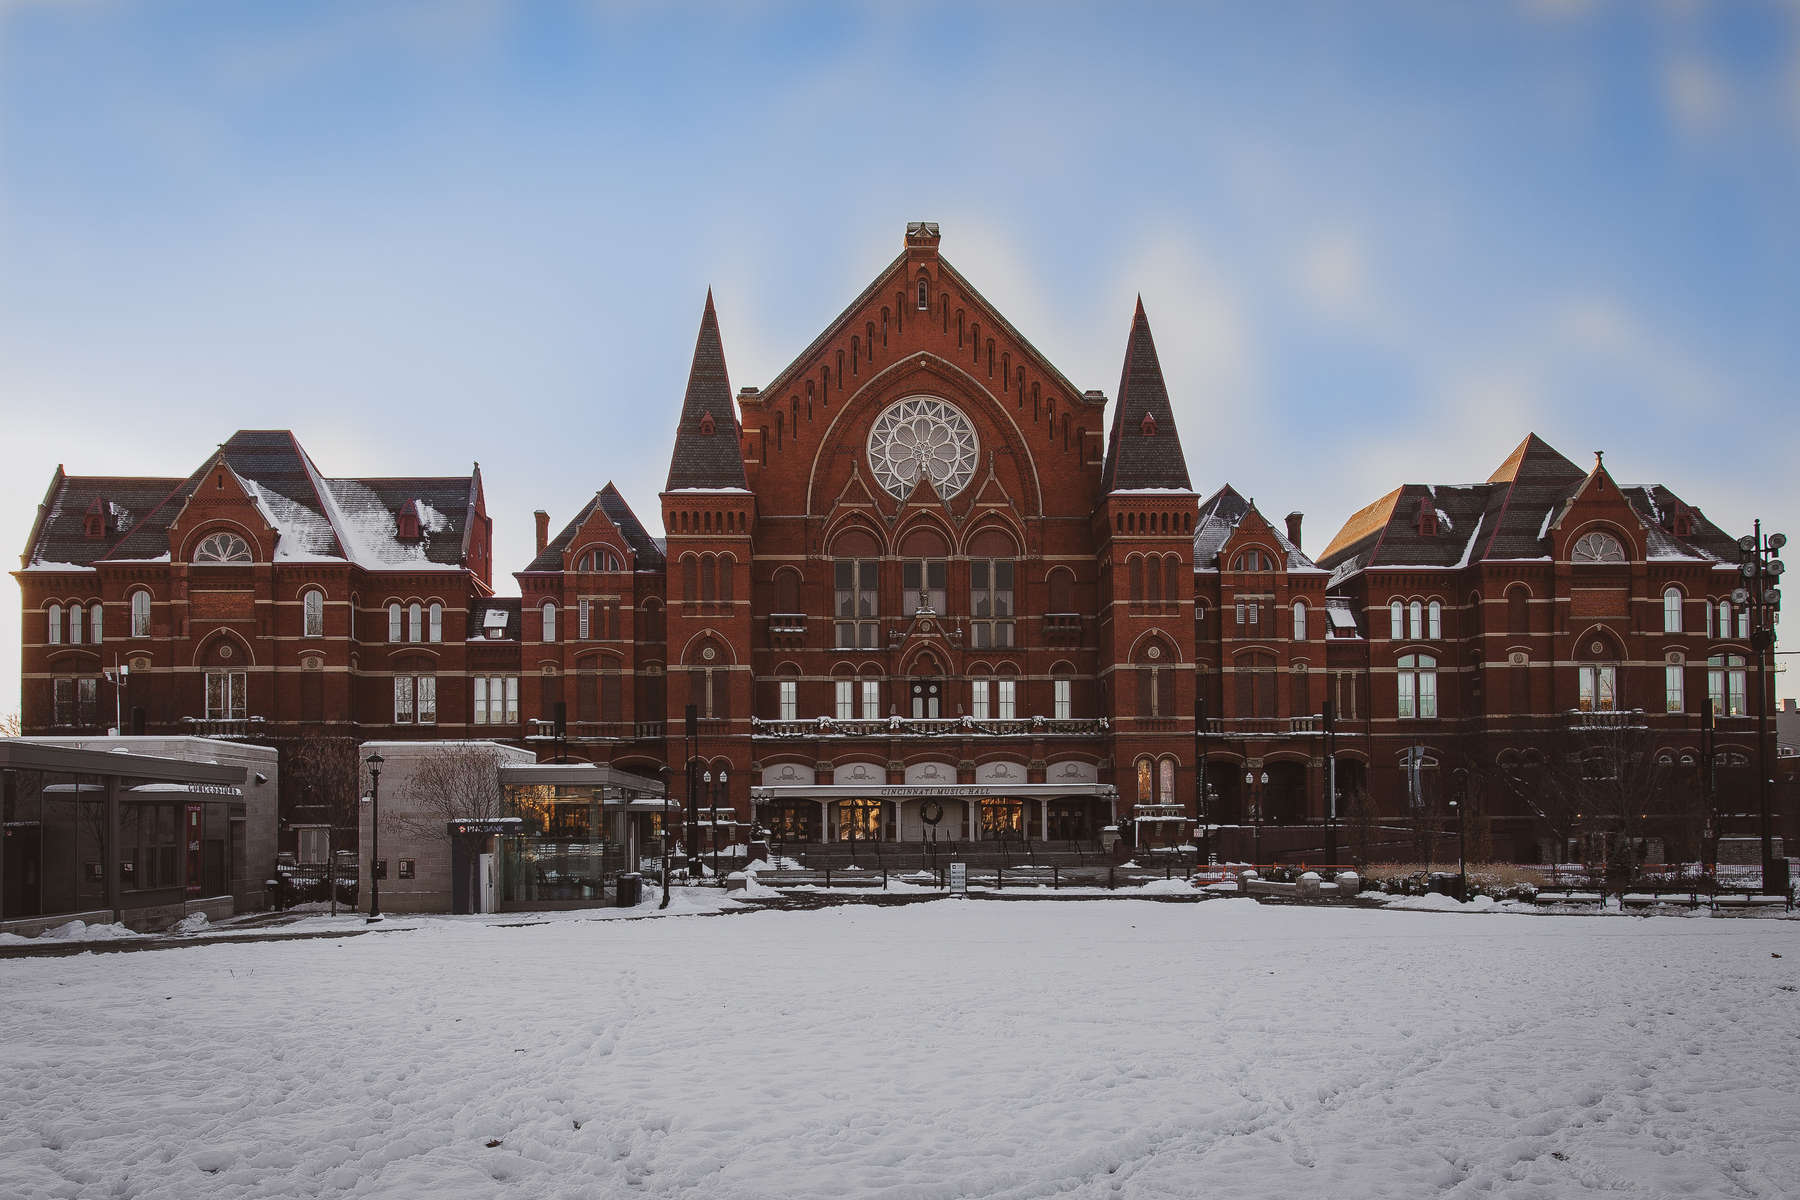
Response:
[[[1483,484],[1404,484],[1357,511],[1319,556],[1332,581],[1368,567],[1463,567],[1483,560],[1550,556],[1550,525],[1588,473],[1537,434],[1526,435]],[[1730,534],[1694,511],[1694,534],[1665,527],[1681,500],[1661,484],[1620,486],[1643,522],[1652,558],[1730,560]],[[1436,534],[1418,533],[1418,513],[1436,515]]]

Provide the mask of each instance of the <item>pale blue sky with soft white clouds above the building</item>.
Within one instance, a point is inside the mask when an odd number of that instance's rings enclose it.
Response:
[[[0,0],[0,545],[239,426],[653,522],[706,288],[763,383],[907,219],[1310,549],[1528,430],[1800,534],[1796,212],[1793,0]]]

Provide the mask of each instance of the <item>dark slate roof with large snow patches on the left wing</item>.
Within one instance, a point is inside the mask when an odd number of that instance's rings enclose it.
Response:
[[[290,430],[238,430],[187,479],[58,477],[23,565],[155,561],[169,554],[169,524],[212,462],[223,459],[263,518],[279,533],[275,561],[353,561],[371,570],[463,563],[479,475],[437,479],[324,479]],[[88,506],[106,500],[128,518],[117,534],[88,540]],[[394,513],[416,504],[423,536],[401,542]]]

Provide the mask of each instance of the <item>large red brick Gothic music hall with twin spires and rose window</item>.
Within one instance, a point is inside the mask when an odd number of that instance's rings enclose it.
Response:
[[[1314,561],[1301,515],[1193,486],[1141,302],[1116,394],[1078,389],[931,223],[763,387],[733,392],[707,297],[659,502],[661,536],[612,484],[554,536],[538,513],[513,599],[479,470],[329,480],[284,432],[185,480],[58,470],[27,730],[486,738],[677,795],[691,768],[727,840],[1318,860],[1328,824],[1404,853],[1453,799],[1492,853],[1564,856],[1532,781],[1589,734],[1728,819],[1773,727],[1733,540],[1667,488],[1532,435]]]

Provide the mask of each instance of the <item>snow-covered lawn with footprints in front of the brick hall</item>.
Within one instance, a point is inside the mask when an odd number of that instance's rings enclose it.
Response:
[[[0,961],[0,1196],[1795,1196],[1796,986],[1793,921],[1242,900]]]

